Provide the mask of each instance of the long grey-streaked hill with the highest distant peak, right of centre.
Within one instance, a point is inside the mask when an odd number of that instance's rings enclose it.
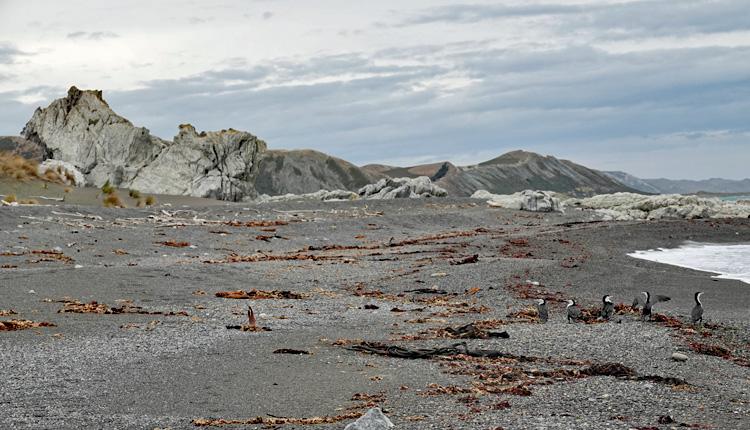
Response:
[[[452,196],[470,196],[477,190],[509,194],[526,189],[558,191],[576,196],[637,192],[597,170],[568,160],[528,151],[512,151],[474,166],[449,162],[412,167],[364,166],[363,170],[390,177],[429,176]]]

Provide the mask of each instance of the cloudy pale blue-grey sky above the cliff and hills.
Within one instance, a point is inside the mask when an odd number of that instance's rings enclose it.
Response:
[[[750,176],[747,0],[0,0],[0,135],[70,85],[167,139]]]

